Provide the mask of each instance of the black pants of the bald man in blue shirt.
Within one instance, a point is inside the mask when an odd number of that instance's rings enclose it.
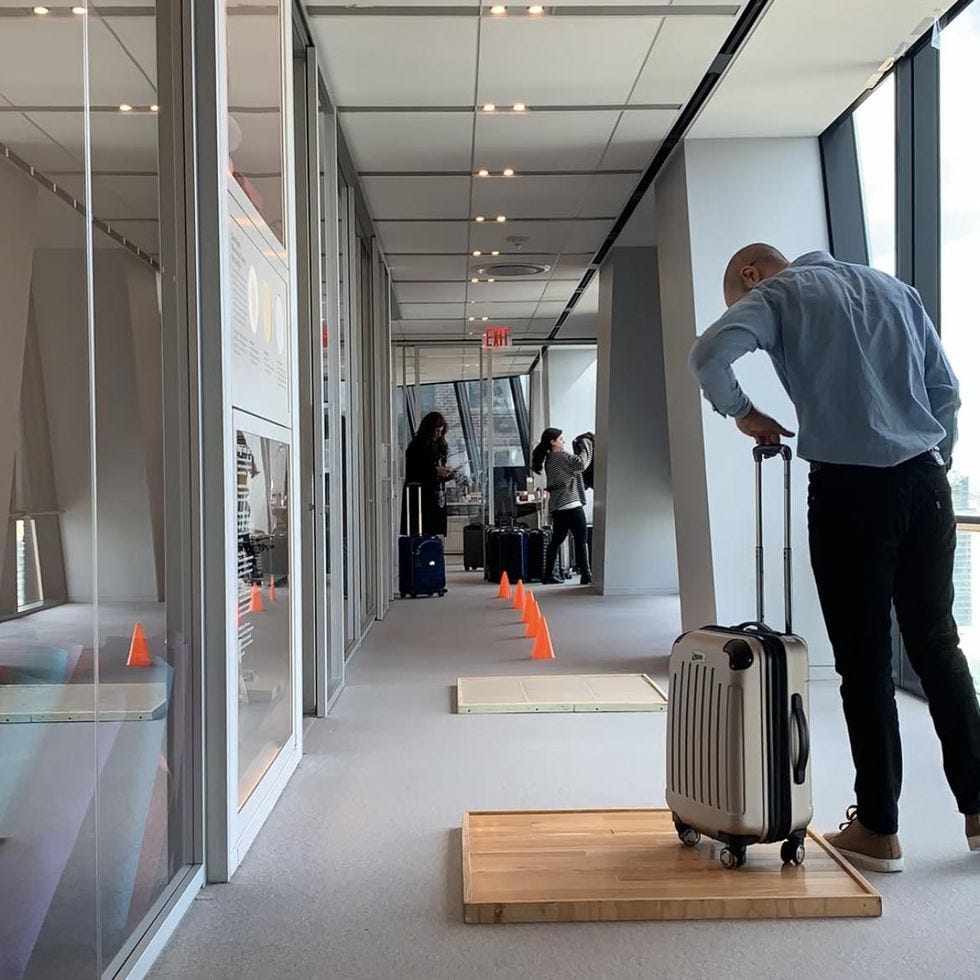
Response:
[[[980,707],[953,620],[956,522],[944,468],[930,454],[887,469],[815,464],[809,528],[861,823],[880,834],[898,830],[893,603],[957,805],[980,813]]]

